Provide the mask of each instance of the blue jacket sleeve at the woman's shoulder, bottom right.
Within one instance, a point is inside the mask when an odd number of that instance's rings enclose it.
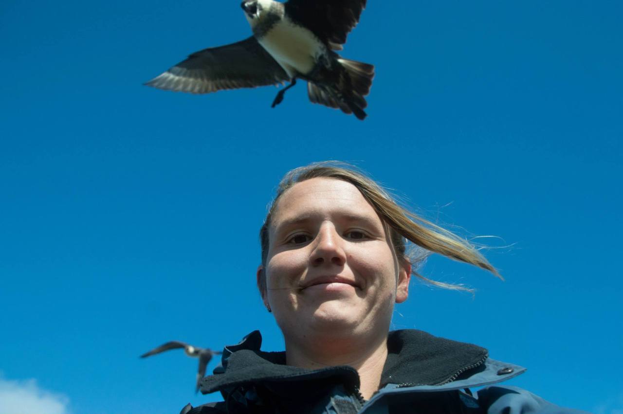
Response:
[[[558,407],[517,387],[487,387],[478,391],[478,404],[487,414],[589,414]]]

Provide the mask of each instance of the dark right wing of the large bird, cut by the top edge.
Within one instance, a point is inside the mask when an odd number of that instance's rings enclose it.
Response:
[[[327,44],[346,43],[346,35],[359,22],[366,0],[288,0],[285,13],[310,29]],[[333,49],[339,49],[333,47]]]

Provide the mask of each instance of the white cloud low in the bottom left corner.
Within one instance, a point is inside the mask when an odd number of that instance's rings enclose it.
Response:
[[[34,379],[0,377],[0,414],[69,414],[69,398],[39,388]]]

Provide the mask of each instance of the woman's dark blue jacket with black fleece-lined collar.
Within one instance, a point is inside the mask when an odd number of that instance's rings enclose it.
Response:
[[[201,383],[202,393],[219,391],[224,401],[189,404],[181,414],[584,413],[497,385],[526,369],[490,359],[482,347],[422,331],[389,332],[381,385],[367,401],[352,367],[292,367],[285,365],[285,352],[264,352],[261,344],[260,332],[254,331],[225,347],[221,365]]]

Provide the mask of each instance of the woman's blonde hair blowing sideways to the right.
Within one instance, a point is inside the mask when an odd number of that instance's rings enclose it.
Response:
[[[396,255],[409,260],[412,264],[412,274],[427,283],[446,289],[467,290],[460,285],[452,285],[440,281],[430,280],[417,273],[417,264],[421,263],[430,253],[439,253],[453,260],[470,263],[484,270],[488,270],[493,275],[502,279],[498,271],[478,252],[477,248],[463,238],[455,235],[445,228],[439,227],[417,214],[404,209],[379,186],[373,179],[366,176],[364,172],[356,167],[339,161],[315,162],[307,166],[298,167],[289,171],[279,183],[277,194],[269,207],[269,212],[264,220],[264,225],[260,229],[260,243],[262,245],[262,265],[266,267],[266,260],[269,250],[269,227],[272,216],[277,208],[280,197],[290,187],[298,182],[312,178],[333,178],[349,182],[357,187],[364,199],[376,210],[376,213],[383,219],[389,227],[389,237],[396,250]],[[412,252],[407,253],[406,240],[419,246]],[[422,250],[424,249],[424,250]],[[266,289],[266,276],[262,272],[260,278],[260,289]]]

